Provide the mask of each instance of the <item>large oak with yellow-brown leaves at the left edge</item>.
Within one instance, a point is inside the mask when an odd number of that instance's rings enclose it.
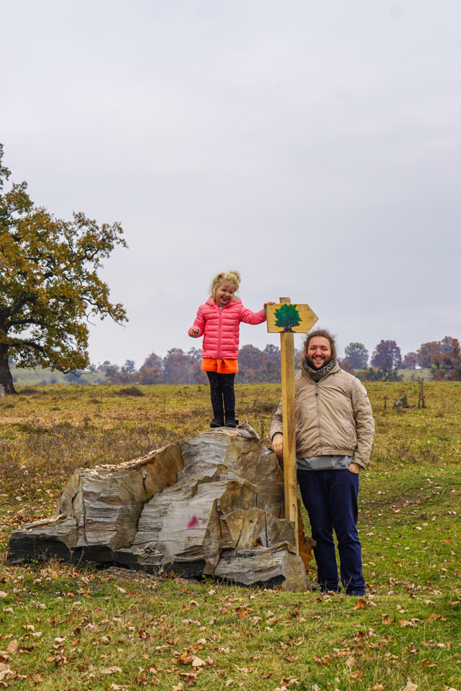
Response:
[[[126,243],[119,223],[98,226],[81,213],[65,221],[35,207],[26,182],[3,193],[11,173],[2,158],[0,144],[0,384],[14,394],[9,358],[17,367],[82,370],[88,319],[127,321],[97,274]]]

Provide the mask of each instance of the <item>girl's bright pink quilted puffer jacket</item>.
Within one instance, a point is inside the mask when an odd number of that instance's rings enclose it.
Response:
[[[221,310],[211,297],[204,305],[200,305],[194,326],[199,328],[195,338],[204,336],[203,357],[237,360],[241,321],[246,324],[262,324],[266,321],[266,314],[264,310],[247,310],[242,305],[242,300],[231,300]],[[188,334],[190,336],[190,330]]]

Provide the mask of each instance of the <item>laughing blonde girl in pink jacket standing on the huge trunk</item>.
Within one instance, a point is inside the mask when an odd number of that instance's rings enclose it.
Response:
[[[210,427],[224,427],[224,415],[226,427],[237,427],[234,379],[239,370],[239,325],[241,321],[247,324],[266,321],[266,303],[259,312],[247,310],[235,295],[239,283],[237,271],[217,274],[211,284],[210,298],[200,305],[194,325],[188,331],[194,339],[204,337],[202,370],[210,380],[214,416]]]

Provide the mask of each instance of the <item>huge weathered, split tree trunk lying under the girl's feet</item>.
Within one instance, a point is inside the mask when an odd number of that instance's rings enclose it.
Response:
[[[95,562],[306,589],[284,479],[245,430],[210,430],[117,466],[79,469],[57,515],[13,531],[8,562]],[[304,543],[307,544],[308,543]]]

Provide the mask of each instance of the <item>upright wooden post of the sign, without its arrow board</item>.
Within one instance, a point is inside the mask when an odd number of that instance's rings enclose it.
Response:
[[[290,298],[280,298],[280,304],[291,304]],[[300,553],[297,531],[297,477],[295,424],[295,342],[293,332],[280,334],[282,366],[282,415],[284,429],[284,485],[285,518],[295,523],[296,553]]]

